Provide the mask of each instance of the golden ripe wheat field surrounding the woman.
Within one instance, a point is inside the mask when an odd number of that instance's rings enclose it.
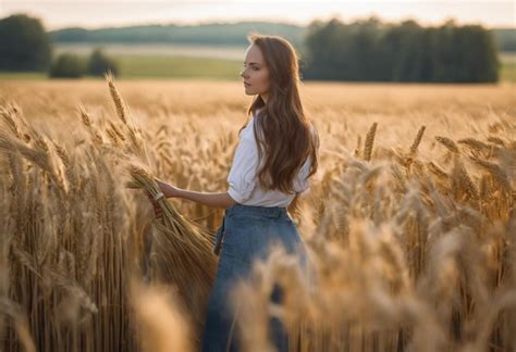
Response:
[[[245,351],[516,349],[516,96],[503,85],[306,83],[319,171],[234,290]],[[195,351],[249,97],[233,81],[0,83],[0,349]],[[285,291],[269,303],[274,282]]]

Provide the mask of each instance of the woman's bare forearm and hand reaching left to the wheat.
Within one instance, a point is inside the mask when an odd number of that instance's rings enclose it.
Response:
[[[156,180],[165,198],[183,198],[211,208],[228,209],[236,202],[228,192],[196,192]]]

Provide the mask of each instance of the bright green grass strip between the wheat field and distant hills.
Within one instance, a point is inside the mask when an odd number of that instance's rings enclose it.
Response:
[[[163,54],[119,54],[113,55],[119,63],[120,77],[124,79],[239,79],[242,62],[230,59],[201,56],[176,56]],[[500,55],[501,81],[516,81],[516,54]],[[46,79],[45,73],[0,72],[0,79]]]

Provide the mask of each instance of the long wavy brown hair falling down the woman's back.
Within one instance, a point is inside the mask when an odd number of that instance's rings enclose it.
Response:
[[[292,194],[294,178],[307,158],[311,158],[308,177],[317,172],[319,148],[317,129],[305,115],[299,97],[297,54],[280,36],[251,34],[247,39],[260,49],[270,79],[267,103],[258,95],[247,111],[255,115],[254,133],[259,160],[266,155],[258,179],[263,189]],[[258,115],[257,110],[260,110]],[[310,128],[314,128],[314,134]]]

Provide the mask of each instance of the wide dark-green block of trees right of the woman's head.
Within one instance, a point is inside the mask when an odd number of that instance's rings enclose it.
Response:
[[[491,33],[478,25],[421,27],[376,17],[315,22],[305,38],[306,79],[492,83],[500,61]]]

